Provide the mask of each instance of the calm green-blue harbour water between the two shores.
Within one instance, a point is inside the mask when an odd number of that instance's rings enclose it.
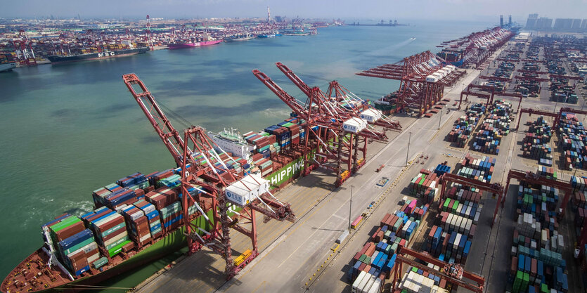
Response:
[[[488,23],[411,22],[410,27],[330,27],[309,37],[254,39],[207,48],[155,51],[113,60],[19,68],[0,74],[0,277],[41,245],[39,225],[92,208],[91,190],[172,157],[131,98],[122,74],[134,72],[160,103],[189,122],[241,132],[276,124],[289,110],[254,77],[257,68],[292,96],[302,92],[280,61],[325,90],[340,84],[363,98],[398,82],[354,73],[484,30]],[[410,38],[415,37],[415,41]],[[174,126],[183,129],[177,119]],[[165,261],[125,276],[130,287]]]

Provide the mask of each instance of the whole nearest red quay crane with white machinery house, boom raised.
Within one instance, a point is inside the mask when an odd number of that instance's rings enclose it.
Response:
[[[181,167],[183,224],[188,235],[188,253],[193,254],[202,247],[217,252],[226,261],[227,278],[232,278],[258,255],[255,211],[271,219],[293,222],[295,214],[290,204],[274,197],[269,192],[269,181],[261,176],[243,176],[228,168],[226,164],[233,159],[207,136],[202,127],[191,126],[183,131],[182,137],[136,74],[124,74],[123,79],[176,164]],[[228,159],[222,159],[222,155]],[[229,203],[232,203],[231,207]],[[196,209],[194,214],[190,213],[191,207]],[[212,219],[207,216],[209,211],[212,211]],[[229,212],[234,219],[228,216]],[[193,220],[198,217],[204,217],[211,230],[195,226]],[[245,228],[245,225],[250,228]],[[252,253],[237,266],[232,261],[230,228],[250,237],[252,242]]]

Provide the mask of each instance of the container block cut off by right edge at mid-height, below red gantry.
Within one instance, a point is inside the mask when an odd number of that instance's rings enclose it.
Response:
[[[575,115],[563,112],[558,126],[559,147],[564,150],[565,167],[587,169],[587,131]]]

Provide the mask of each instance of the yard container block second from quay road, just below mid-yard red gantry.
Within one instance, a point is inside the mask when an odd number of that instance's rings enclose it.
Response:
[[[472,150],[498,155],[501,138],[510,132],[511,109],[512,104],[506,101],[496,100],[491,105],[491,113],[475,134]]]

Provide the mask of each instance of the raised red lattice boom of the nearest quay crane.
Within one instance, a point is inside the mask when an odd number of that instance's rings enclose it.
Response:
[[[157,101],[155,101],[153,95],[148,91],[147,86],[143,84],[141,79],[138,79],[136,74],[124,74],[122,78],[124,79],[124,84],[127,85],[127,88],[129,88],[129,91],[136,100],[136,103],[141,107],[151,125],[153,125],[155,132],[157,132],[157,135],[165,143],[167,150],[171,152],[177,166],[181,166],[184,142],[179,132],[174,129],[172,122],[169,121],[157,104]],[[133,86],[135,85],[140,87],[140,92],[137,93],[134,89]]]

